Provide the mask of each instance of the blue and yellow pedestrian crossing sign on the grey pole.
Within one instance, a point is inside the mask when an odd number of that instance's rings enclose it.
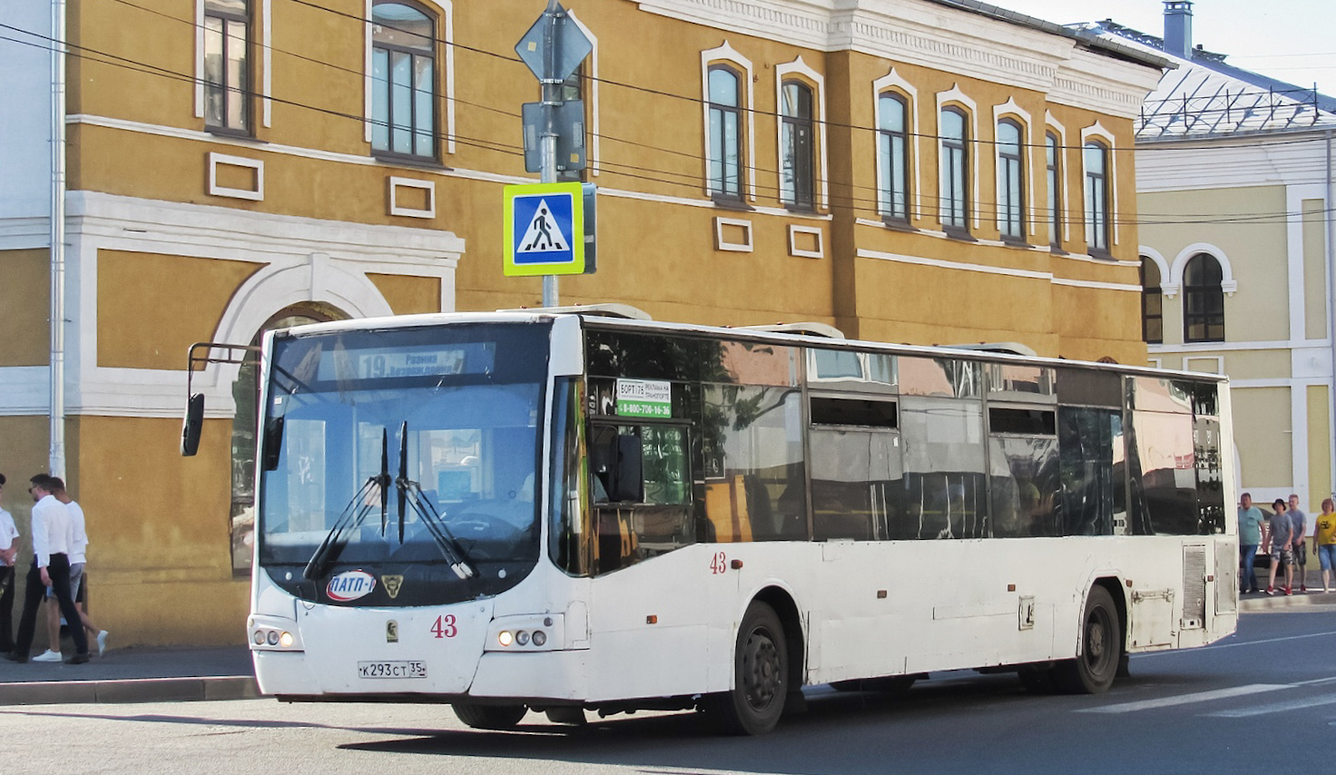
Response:
[[[584,190],[570,183],[505,187],[505,275],[584,274]]]

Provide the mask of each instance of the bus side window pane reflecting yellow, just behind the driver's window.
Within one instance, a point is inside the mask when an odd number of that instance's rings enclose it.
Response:
[[[807,537],[800,401],[786,388],[704,386],[707,540]]]

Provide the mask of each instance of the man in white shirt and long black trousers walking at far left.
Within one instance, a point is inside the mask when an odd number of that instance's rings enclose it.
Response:
[[[69,552],[73,544],[73,525],[69,510],[51,494],[51,477],[44,473],[29,480],[35,501],[32,506],[32,567],[23,595],[23,615],[19,617],[19,637],[13,651],[4,655],[9,661],[28,661],[32,636],[37,627],[37,605],[51,587],[65,621],[77,623],[79,609],[69,596]],[[88,661],[88,637],[77,624],[69,628],[75,641],[75,655],[65,664]]]

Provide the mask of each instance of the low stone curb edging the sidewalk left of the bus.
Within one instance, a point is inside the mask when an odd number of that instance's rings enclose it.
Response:
[[[254,676],[204,676],[0,684],[0,706],[183,703],[262,696]]]

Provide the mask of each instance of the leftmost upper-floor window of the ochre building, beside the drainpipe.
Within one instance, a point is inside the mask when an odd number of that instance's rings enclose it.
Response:
[[[204,0],[204,126],[250,126],[250,0]]]

